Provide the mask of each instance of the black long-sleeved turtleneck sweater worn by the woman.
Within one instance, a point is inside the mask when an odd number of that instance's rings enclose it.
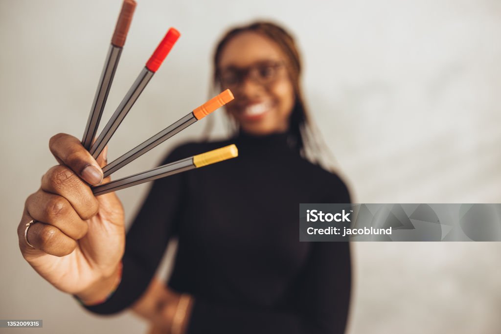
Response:
[[[146,290],[172,237],[169,287],[195,302],[188,333],[343,333],[347,242],[300,242],[299,203],[350,203],[343,181],[303,159],[287,134],[176,148],[163,164],[236,144],[238,157],[154,182],[126,237],[114,313]]]

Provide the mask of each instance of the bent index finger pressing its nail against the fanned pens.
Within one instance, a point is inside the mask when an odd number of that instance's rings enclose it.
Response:
[[[68,166],[89,184],[103,181],[101,167],[76,137],[59,133],[49,141],[49,149],[59,163]]]

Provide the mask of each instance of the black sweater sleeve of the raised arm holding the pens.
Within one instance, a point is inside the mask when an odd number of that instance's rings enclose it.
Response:
[[[185,158],[175,149],[162,164]],[[170,237],[182,203],[183,175],[175,174],[153,182],[153,185],[130,226],[125,238],[122,258],[122,280],[105,302],[85,306],[89,311],[112,314],[134,303],[146,290]]]

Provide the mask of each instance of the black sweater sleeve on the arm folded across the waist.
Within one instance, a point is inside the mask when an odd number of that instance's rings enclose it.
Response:
[[[336,184],[325,203],[350,203],[345,184]],[[299,240],[298,240],[299,242]],[[308,260],[291,287],[285,307],[249,309],[196,299],[188,334],[290,333],[342,334],[346,330],[351,291],[348,242],[310,242]]]

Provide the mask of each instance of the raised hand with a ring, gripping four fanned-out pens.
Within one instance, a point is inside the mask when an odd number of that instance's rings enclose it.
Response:
[[[49,147],[60,165],[50,168],[42,185],[25,203],[18,227],[23,257],[58,289],[84,302],[107,296],[117,280],[124,253],[124,213],[115,193],[95,197],[89,186],[103,180],[106,151],[97,161],[80,140],[58,134]],[[37,222],[28,229],[26,224]],[[115,275],[115,277],[114,277]]]

